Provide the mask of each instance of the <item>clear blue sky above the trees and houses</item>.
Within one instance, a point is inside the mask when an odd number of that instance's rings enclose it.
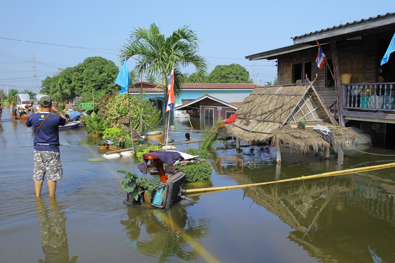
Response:
[[[118,50],[130,32],[154,22],[166,37],[189,25],[209,73],[217,65],[237,63],[254,82],[259,75],[266,83],[276,77],[274,63],[250,62],[245,56],[292,45],[295,36],[394,12],[395,1],[3,0],[1,9],[0,89],[39,93],[32,88],[33,54],[39,87],[47,75],[87,57],[101,56],[119,67]],[[128,66],[133,68],[133,62]],[[194,68],[182,72],[192,74]]]

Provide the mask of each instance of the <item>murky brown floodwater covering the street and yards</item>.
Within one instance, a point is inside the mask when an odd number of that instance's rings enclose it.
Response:
[[[84,128],[60,131],[64,179],[56,198],[46,183],[36,198],[33,134],[23,120],[0,122],[0,262],[395,262],[394,169],[276,185],[191,194],[195,204],[160,211],[127,206],[117,168],[142,176],[130,157],[103,159]],[[170,134],[199,137],[199,120],[174,120]],[[197,145],[179,145],[177,150]],[[185,188],[282,180],[385,164],[395,151],[377,148],[322,154],[284,150],[276,166],[272,148],[218,143],[209,162],[212,179]],[[368,153],[366,153],[368,152]],[[256,163],[240,167],[216,156]],[[147,175],[158,180],[156,176]]]

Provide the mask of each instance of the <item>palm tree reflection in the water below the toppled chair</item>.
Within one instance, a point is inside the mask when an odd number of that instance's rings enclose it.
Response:
[[[208,220],[187,216],[186,209],[175,205],[169,210],[131,206],[128,220],[120,221],[125,226],[129,246],[146,255],[159,255],[158,262],[177,257],[185,261],[197,260],[192,248],[195,240],[209,234]]]

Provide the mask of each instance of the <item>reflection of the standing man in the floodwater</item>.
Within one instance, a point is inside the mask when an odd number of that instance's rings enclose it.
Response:
[[[69,257],[69,244],[66,233],[66,217],[56,197],[49,204],[37,198],[37,212],[40,222],[40,237],[45,260],[39,263],[76,263],[78,256]]]

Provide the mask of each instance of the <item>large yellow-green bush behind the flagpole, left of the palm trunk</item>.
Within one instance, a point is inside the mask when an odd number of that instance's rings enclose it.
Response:
[[[105,120],[112,127],[121,128],[124,124],[119,123],[120,117],[129,116],[129,101],[127,94],[113,94],[112,96],[106,97],[107,100],[103,107],[100,108],[100,112],[103,114]],[[136,130],[139,129],[140,125],[140,103],[139,98],[130,95],[130,109],[132,117],[132,127]],[[152,127],[160,122],[161,113],[154,109],[152,105],[143,100],[143,128]]]

